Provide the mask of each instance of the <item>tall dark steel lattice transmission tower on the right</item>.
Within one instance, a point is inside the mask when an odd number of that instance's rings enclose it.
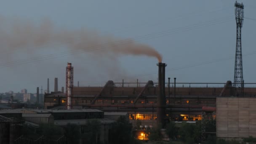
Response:
[[[242,42],[241,42],[241,29],[243,27],[243,3],[235,2],[235,20],[237,23],[237,43],[235,50],[235,75],[234,87],[235,94],[243,96],[243,62],[242,62]]]

